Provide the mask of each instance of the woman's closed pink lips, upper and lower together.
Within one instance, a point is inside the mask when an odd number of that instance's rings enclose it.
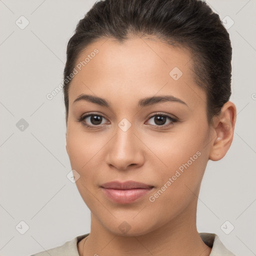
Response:
[[[105,196],[117,203],[130,203],[147,194],[153,186],[136,181],[112,181],[101,185]]]

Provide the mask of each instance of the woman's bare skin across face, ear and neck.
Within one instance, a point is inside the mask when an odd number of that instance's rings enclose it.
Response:
[[[226,102],[213,117],[214,125],[208,125],[206,94],[193,81],[186,49],[152,38],[131,37],[124,43],[100,39],[80,53],[77,63],[95,48],[99,52],[73,77],[68,92],[66,150],[80,175],[78,191],[91,211],[90,234],[85,243],[84,238],[77,244],[79,255],[209,255],[211,248],[196,229],[197,197],[207,161],[221,159],[231,144],[234,104]],[[175,66],[183,73],[178,80],[169,75]],[[112,108],[85,100],[73,103],[82,93],[105,98]],[[159,95],[173,95],[186,105],[168,101],[137,107],[139,99]],[[101,128],[77,121],[91,112],[104,117],[96,124]],[[166,118],[164,124],[170,125],[161,129],[151,117],[158,112],[178,122]],[[127,131],[118,126],[123,118],[131,124]],[[95,123],[90,117],[86,120]],[[197,151],[200,156],[149,201]],[[100,188],[113,180],[154,187],[135,202],[118,204]],[[123,221],[130,227],[127,233],[118,228]]]

